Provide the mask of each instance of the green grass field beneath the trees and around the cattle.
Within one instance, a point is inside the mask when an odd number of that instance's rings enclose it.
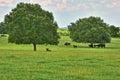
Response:
[[[66,41],[78,48],[64,46]],[[64,36],[58,46],[38,45],[34,52],[32,45],[0,38],[0,80],[120,80],[120,39],[106,48],[89,48]]]

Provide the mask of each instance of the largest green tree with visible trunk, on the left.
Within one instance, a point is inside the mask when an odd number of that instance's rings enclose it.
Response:
[[[38,4],[19,3],[17,7],[5,16],[8,41],[16,44],[33,44],[36,51],[37,44],[59,43],[58,25],[53,14],[45,11]]]

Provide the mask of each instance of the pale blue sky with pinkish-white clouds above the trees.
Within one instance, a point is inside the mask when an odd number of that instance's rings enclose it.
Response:
[[[53,13],[59,27],[89,16],[101,17],[107,24],[120,27],[120,0],[0,0],[0,22],[19,2],[40,4]]]

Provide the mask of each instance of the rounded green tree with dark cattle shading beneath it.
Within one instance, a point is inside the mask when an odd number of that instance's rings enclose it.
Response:
[[[90,16],[68,26],[70,38],[75,42],[107,43],[111,41],[108,25],[100,18]]]

